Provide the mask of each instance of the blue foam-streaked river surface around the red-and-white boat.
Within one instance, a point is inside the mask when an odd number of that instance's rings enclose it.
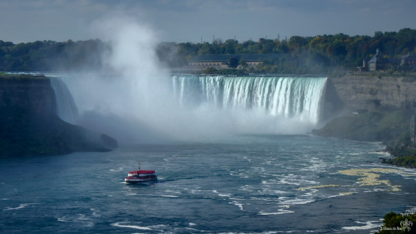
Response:
[[[2,158],[4,233],[370,233],[414,211],[415,171],[381,147],[316,136],[134,145],[107,153]],[[130,185],[128,171],[158,182]]]

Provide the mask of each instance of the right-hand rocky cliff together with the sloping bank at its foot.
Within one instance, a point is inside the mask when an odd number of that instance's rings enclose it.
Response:
[[[329,78],[326,85],[325,109],[328,116],[333,111],[332,118],[313,134],[383,141],[393,154],[397,153],[392,149],[402,151],[409,145],[410,116],[416,110],[416,77],[360,73]]]

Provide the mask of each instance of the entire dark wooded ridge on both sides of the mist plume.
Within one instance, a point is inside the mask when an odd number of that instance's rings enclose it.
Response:
[[[234,39],[211,43],[159,43],[157,54],[169,67],[182,67],[200,54],[288,54],[280,61],[263,61],[250,72],[319,73],[352,70],[371,58],[379,48],[386,58],[416,54],[416,30],[375,32],[373,36],[346,34],[291,36],[289,39],[261,39],[239,42]],[[103,67],[104,55],[111,53],[108,42],[0,41],[0,71],[91,70]]]

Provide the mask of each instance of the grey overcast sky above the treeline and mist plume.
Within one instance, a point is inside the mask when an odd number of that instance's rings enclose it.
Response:
[[[177,43],[373,36],[415,29],[415,12],[415,0],[0,0],[0,40],[100,39],[96,25],[117,18]]]

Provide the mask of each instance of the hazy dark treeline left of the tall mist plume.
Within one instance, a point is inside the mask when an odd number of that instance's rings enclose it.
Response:
[[[0,41],[0,71],[90,70],[101,67],[105,50],[108,48],[100,40],[19,44]]]

